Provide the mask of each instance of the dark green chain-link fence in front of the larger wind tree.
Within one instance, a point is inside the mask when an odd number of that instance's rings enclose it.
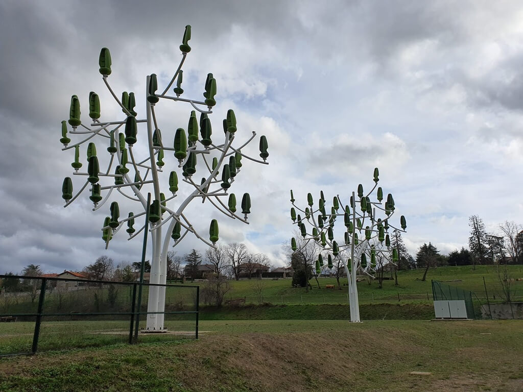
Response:
[[[0,275],[0,356],[198,338],[199,287]],[[147,312],[165,290],[164,312]],[[147,332],[146,318],[164,329]]]

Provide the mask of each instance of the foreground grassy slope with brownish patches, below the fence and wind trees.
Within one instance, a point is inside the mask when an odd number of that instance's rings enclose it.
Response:
[[[522,329],[518,320],[203,321],[198,341],[2,359],[0,391],[516,392]]]

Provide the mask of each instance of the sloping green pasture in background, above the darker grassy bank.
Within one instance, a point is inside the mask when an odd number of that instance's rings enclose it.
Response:
[[[510,275],[513,278],[523,278],[523,266],[509,266]],[[485,303],[485,289],[483,277],[485,278],[488,295],[492,302],[501,302],[503,299],[501,283],[495,266],[472,267],[440,267],[429,270],[427,281],[422,282],[423,270],[400,271],[399,286],[394,285],[393,280],[383,282],[383,288],[378,289],[378,282],[358,282],[358,293],[360,305],[365,304],[426,304],[432,303],[432,289],[430,280],[438,280],[451,286],[462,287],[470,290]],[[311,280],[312,290],[308,292],[304,288],[291,287],[291,279],[264,279],[261,281],[241,280],[230,281],[231,291],[226,299],[245,298],[247,304],[259,304],[258,290],[261,290],[261,303],[273,305],[298,305],[298,304],[347,304],[347,287],[342,290],[325,289],[326,285],[336,284],[334,278],[319,278],[320,289],[317,288],[314,279]],[[344,280],[341,280],[342,284]],[[345,280],[346,282],[346,280]],[[181,289],[169,287],[166,291],[167,310],[192,310],[195,309],[196,290],[190,285],[204,285],[205,282],[187,282]],[[258,286],[260,284],[260,286]],[[70,312],[130,312],[132,288],[113,285],[116,297],[111,303],[109,301],[109,289],[96,286],[87,287],[84,290],[60,293],[57,290],[46,293],[44,312],[47,313],[70,313]],[[523,301],[523,281],[512,283],[514,290],[513,299]],[[148,291],[143,292],[142,309],[146,310]],[[31,303],[28,294],[10,298],[10,303],[0,301],[0,313],[34,313],[38,301]],[[475,297],[473,297],[475,300]],[[204,305],[204,301],[202,301]],[[477,301],[476,301],[477,302]],[[479,306],[479,302],[475,304]]]

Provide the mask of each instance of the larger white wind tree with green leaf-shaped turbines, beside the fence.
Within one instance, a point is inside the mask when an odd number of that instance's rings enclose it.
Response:
[[[106,242],[107,249],[113,235],[118,233],[124,225],[127,225],[126,232],[129,234],[129,240],[136,237],[147,227],[151,232],[152,240],[150,276],[150,283],[152,284],[166,283],[167,251],[171,239],[174,240],[173,246],[178,245],[187,233],[194,234],[209,246],[214,246],[218,241],[217,220],[211,220],[209,240],[204,239],[184,215],[184,210],[188,204],[195,199],[201,199],[202,203],[206,201],[211,203],[218,211],[230,218],[248,223],[247,215],[251,213],[249,194],[243,195],[241,202],[241,214],[243,216],[241,216],[240,211],[237,211],[236,196],[234,193],[228,193],[228,190],[236,176],[240,174],[243,165],[242,158],[268,164],[269,153],[267,152],[268,145],[265,136],[261,136],[259,140],[261,160],[249,157],[241,151],[254,140],[255,132],[250,137],[246,137],[246,141],[239,147],[233,147],[237,130],[236,118],[232,109],[227,112],[226,118],[223,120],[224,141],[222,144],[213,142],[213,139],[218,135],[212,134],[211,120],[208,115],[212,113],[212,108],[216,105],[214,96],[217,94],[217,87],[216,80],[211,73],[207,75],[203,93],[204,100],[181,98],[184,93],[181,87],[183,80],[181,67],[187,53],[191,50],[188,44],[190,36],[191,27],[186,26],[183,42],[180,45],[182,54],[180,64],[162,93],[156,92],[156,75],[147,76],[145,116],[138,116],[138,113],[134,111],[134,93],[123,91],[121,99],[118,99],[109,86],[108,76],[111,74],[111,56],[109,50],[103,48],[99,57],[99,72],[103,76],[110,94],[121,107],[123,119],[100,120],[100,100],[98,95],[92,91],[89,93],[89,124],[84,124],[80,118],[80,103],[76,95],[71,98],[70,116],[69,121],[67,121],[72,126],[72,131],[69,131],[69,134],[86,135],[85,139],[70,144],[71,140],[67,135],[67,122],[62,121],[62,138],[60,139],[60,142],[64,145],[62,151],[74,150],[74,162],[71,164],[74,168],[73,175],[87,177],[76,194],[73,194],[71,177],[64,179],[62,197],[65,200],[65,207],[70,205],[88,186],[90,187],[88,189],[90,192],[89,199],[94,203],[93,211],[103,207],[113,193],[120,193],[124,198],[141,204],[142,212],[137,214],[129,212],[127,217],[120,217],[118,202],[113,201],[109,207],[110,216],[105,218],[101,228],[102,238]],[[167,95],[167,91],[175,81],[175,95]],[[170,146],[167,143],[173,140],[173,136],[167,137],[165,128],[163,128],[162,134],[156,121],[155,106],[160,99],[169,102],[185,102],[194,109],[190,112],[187,131],[183,128],[177,128],[174,132],[174,143]],[[196,112],[200,113],[199,120],[196,117]],[[144,134],[140,138],[138,128],[142,124],[146,125],[146,137]],[[97,156],[97,149],[100,151],[100,148],[97,148],[93,142],[95,137],[96,140],[105,142],[107,152],[110,155],[110,157],[107,157],[108,164],[105,170],[100,170]],[[148,147],[148,154],[140,158],[135,156],[133,152],[138,140],[143,141],[144,147]],[[79,158],[80,149],[85,144],[87,144],[87,172],[81,172],[79,169],[82,168],[83,164]],[[165,178],[163,176],[164,168],[170,166],[164,162],[166,152],[173,152],[175,157],[175,163],[172,167],[169,167],[172,170],[169,172],[168,180],[166,175]],[[199,169],[198,174],[201,176],[199,181],[194,178],[197,167]],[[181,185],[178,181],[180,174],[181,182],[185,182],[186,187],[192,189],[192,193],[185,200],[177,203],[176,206],[171,206],[169,204],[173,203],[177,196],[178,187]],[[113,183],[103,186],[100,179]],[[167,186],[167,184],[168,192],[172,195],[166,196],[167,192],[161,190],[161,186]],[[147,192],[145,189],[151,190],[151,188],[152,204],[150,204],[149,222],[145,222],[147,209]],[[224,201],[223,198],[228,198],[228,200]],[[137,230],[134,228],[134,224],[139,217],[143,217],[144,222]],[[165,287],[150,286],[146,330],[165,330],[163,314],[159,313],[163,312],[164,308]]]

